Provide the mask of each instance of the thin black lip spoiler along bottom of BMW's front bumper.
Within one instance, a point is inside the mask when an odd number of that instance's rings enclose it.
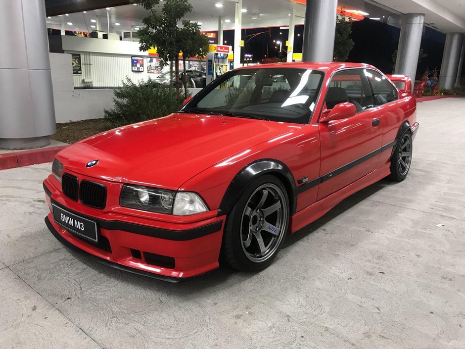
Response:
[[[71,250],[73,250],[75,252],[78,252],[79,254],[81,254],[81,255],[83,255],[83,256],[85,256],[85,257],[87,257],[87,258],[89,258],[89,259],[91,259],[91,260],[93,260],[93,261],[95,261],[97,263],[100,263],[100,264],[103,264],[103,265],[106,265],[106,266],[109,266],[109,267],[112,267],[112,268],[115,268],[115,269],[128,271],[128,272],[133,273],[133,274],[146,276],[146,277],[149,277],[149,278],[152,278],[152,279],[158,279],[158,280],[167,281],[167,282],[171,282],[171,283],[177,283],[177,282],[180,282],[180,281],[191,280],[193,278],[196,278],[196,277],[200,276],[200,275],[198,275],[198,276],[193,276],[193,277],[189,277],[189,278],[175,278],[175,277],[170,277],[170,276],[164,276],[164,275],[149,273],[147,271],[131,268],[131,267],[128,267],[126,265],[121,265],[121,264],[111,262],[111,261],[106,260],[106,259],[102,259],[100,257],[97,257],[97,256],[93,255],[92,253],[89,253],[89,252],[87,252],[87,251],[85,251],[83,249],[80,249],[77,246],[74,246],[68,240],[63,238],[56,231],[56,229],[53,227],[53,225],[51,224],[48,217],[45,217],[45,224],[47,224],[48,230],[50,230],[50,232],[53,234],[53,236],[56,238],[56,240],[58,240],[60,243],[62,243],[68,249],[71,249]]]

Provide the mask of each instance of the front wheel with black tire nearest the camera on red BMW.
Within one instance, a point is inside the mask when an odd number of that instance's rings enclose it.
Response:
[[[272,175],[258,177],[228,215],[222,259],[237,270],[267,268],[282,247],[288,224],[289,199],[283,184]]]

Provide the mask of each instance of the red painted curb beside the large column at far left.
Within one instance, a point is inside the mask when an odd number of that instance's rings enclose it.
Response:
[[[0,154],[0,170],[50,162],[55,154],[68,147],[59,146],[45,149],[24,150]]]

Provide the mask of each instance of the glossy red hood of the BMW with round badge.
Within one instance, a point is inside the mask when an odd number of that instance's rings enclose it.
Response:
[[[287,132],[279,122],[176,113],[95,135],[57,159],[65,171],[176,190],[206,168]],[[92,160],[98,163],[87,168]]]

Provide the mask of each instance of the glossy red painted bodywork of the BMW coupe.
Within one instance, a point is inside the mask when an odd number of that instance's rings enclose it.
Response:
[[[234,176],[260,159],[276,159],[299,178],[310,181],[326,175],[396,139],[404,121],[417,127],[416,100],[399,91],[399,99],[362,111],[352,117],[319,122],[325,107],[329,81],[338,69],[371,68],[358,63],[278,63],[282,67],[318,69],[326,73],[322,92],[307,125],[217,115],[175,113],[167,117],[128,125],[93,136],[58,154],[64,172],[102,183],[107,187],[107,204],[102,210],[83,206],[61,194],[58,181],[48,176],[45,183],[52,198],[76,212],[103,220],[120,220],[176,231],[201,227],[226,219],[218,208]],[[261,68],[276,67],[275,64]],[[247,67],[239,69],[248,69]],[[376,69],[375,69],[376,70]],[[373,119],[381,122],[372,126]],[[326,213],[342,199],[390,171],[392,148],[330,178],[297,197],[290,231],[304,227]],[[98,164],[86,168],[97,159]],[[124,183],[198,193],[209,211],[192,216],[144,212],[121,207]],[[52,217],[49,217],[53,223]],[[53,223],[72,244],[101,258],[140,270],[174,277],[198,275],[218,267],[222,231],[191,241],[169,241],[124,231],[105,231],[113,253],[102,252],[76,239]],[[136,262],[130,249],[172,256],[175,269],[163,269]]]

